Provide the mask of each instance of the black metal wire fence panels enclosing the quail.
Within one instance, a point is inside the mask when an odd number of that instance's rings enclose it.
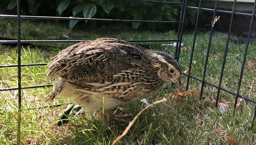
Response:
[[[234,108],[236,108],[236,103],[238,102],[238,97],[243,98],[249,102],[252,102],[254,104],[256,104],[256,100],[252,100],[250,98],[247,98],[243,95],[241,95],[239,93],[240,91],[240,86],[241,86],[241,81],[242,81],[242,76],[243,76],[243,71],[244,71],[244,66],[245,66],[245,60],[246,60],[246,56],[247,56],[247,50],[249,47],[249,42],[250,42],[250,35],[251,35],[251,30],[252,30],[252,23],[255,17],[255,7],[256,7],[256,0],[254,2],[254,7],[252,10],[252,13],[241,13],[241,12],[235,12],[235,7],[236,7],[236,0],[234,0],[234,4],[233,4],[233,10],[232,11],[223,11],[223,10],[217,10],[217,3],[218,0],[215,0],[215,6],[214,9],[209,9],[209,8],[202,8],[201,7],[201,1],[199,0],[199,4],[198,7],[192,7],[192,6],[187,6],[187,0],[182,0],[182,2],[167,2],[167,1],[152,1],[152,0],[126,0],[126,1],[132,1],[132,2],[150,2],[150,3],[158,3],[158,4],[170,4],[170,5],[177,5],[180,6],[180,18],[179,21],[144,21],[144,20],[124,20],[124,19],[96,19],[96,18],[73,18],[73,17],[44,17],[44,16],[23,16],[21,15],[21,0],[17,0],[17,15],[6,15],[6,14],[0,14],[0,18],[17,18],[17,40],[0,40],[0,43],[17,43],[17,55],[18,55],[18,64],[11,64],[11,65],[0,65],[0,68],[10,68],[10,67],[17,67],[17,73],[18,73],[18,86],[17,87],[13,87],[13,88],[1,88],[0,91],[10,91],[10,90],[18,90],[18,111],[22,110],[22,94],[21,94],[21,90],[22,89],[30,89],[30,88],[39,88],[39,87],[51,87],[51,84],[47,84],[47,85],[37,85],[37,86],[21,86],[21,67],[23,66],[42,66],[42,65],[46,65],[47,63],[34,63],[34,64],[21,64],[21,44],[22,43],[56,43],[56,42],[82,42],[82,41],[89,41],[89,40],[21,40],[21,19],[54,19],[54,20],[70,20],[70,19],[74,19],[74,20],[82,20],[82,21],[103,21],[103,22],[128,22],[128,23],[132,23],[132,22],[141,22],[141,23],[167,23],[167,24],[178,24],[178,33],[177,33],[177,39],[169,39],[169,40],[127,40],[129,42],[171,42],[174,41],[176,42],[178,45],[176,45],[176,49],[175,49],[175,57],[177,60],[179,60],[180,57],[180,50],[181,50],[181,41],[182,41],[182,34],[183,34],[183,26],[184,26],[184,19],[185,19],[185,13],[186,13],[186,9],[187,8],[191,8],[191,9],[196,9],[197,10],[197,18],[196,18],[196,24],[195,24],[195,28],[194,28],[194,38],[193,38],[193,43],[192,43],[192,49],[191,49],[191,57],[190,57],[190,63],[189,63],[189,70],[188,74],[182,72],[183,75],[187,76],[187,82],[186,82],[186,90],[188,90],[188,86],[189,86],[189,81],[190,78],[195,79],[197,81],[202,82],[201,83],[201,93],[200,93],[200,98],[202,97],[202,93],[203,93],[203,87],[205,84],[215,87],[218,89],[217,91],[217,96],[216,96],[216,104],[215,106],[218,105],[218,100],[219,100],[219,94],[220,94],[220,90],[228,92],[232,95],[235,95],[235,103],[234,103]],[[211,11],[213,12],[213,21],[214,21],[214,17],[216,15],[216,13],[226,13],[226,14],[231,14],[231,19],[230,19],[230,25],[229,25],[229,31],[228,31],[228,37],[226,40],[226,45],[225,45],[225,52],[224,52],[224,56],[223,56],[223,64],[222,64],[222,69],[221,69],[221,73],[219,76],[219,83],[218,85],[215,85],[213,83],[209,83],[205,81],[205,76],[206,76],[206,71],[207,71],[207,63],[208,63],[208,57],[209,57],[209,51],[210,51],[210,45],[211,45],[211,40],[212,40],[212,35],[213,35],[213,29],[214,27],[211,27],[210,30],[210,35],[209,35],[209,42],[208,42],[208,47],[207,47],[207,54],[206,54],[206,58],[205,58],[205,64],[204,64],[204,71],[203,71],[203,77],[202,79],[199,79],[196,76],[192,76],[190,74],[191,69],[192,69],[192,60],[193,60],[193,52],[194,52],[194,47],[195,47],[195,42],[196,42],[196,36],[197,36],[197,30],[198,30],[198,18],[199,18],[199,12],[200,11]],[[245,16],[245,17],[251,17],[251,22],[249,25],[249,32],[248,32],[248,36],[247,36],[247,40],[246,40],[246,46],[245,46],[245,52],[244,52],[244,57],[242,60],[242,66],[241,66],[241,71],[240,71],[240,77],[239,77],[239,82],[237,85],[237,91],[233,92],[230,91],[227,88],[223,88],[221,87],[222,84],[222,79],[223,79],[223,72],[224,72],[224,68],[225,68],[225,60],[226,60],[226,56],[227,56],[227,51],[228,51],[228,46],[229,46],[229,39],[230,39],[230,34],[231,34],[231,27],[232,27],[232,22],[233,22],[233,17],[234,15],[240,15],[240,16]],[[52,105],[52,106],[60,106],[60,104],[57,105]],[[45,108],[45,107],[49,107],[49,106],[41,106],[39,108]],[[31,108],[32,109],[32,108]],[[252,120],[252,126],[254,124],[255,121],[255,116],[256,116],[256,105],[255,105],[255,110],[254,110],[254,116],[253,116],[253,120]],[[18,120],[18,134],[19,134],[19,130],[20,130],[20,120]]]

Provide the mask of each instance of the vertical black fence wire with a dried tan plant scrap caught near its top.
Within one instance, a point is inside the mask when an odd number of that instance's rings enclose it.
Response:
[[[212,22],[214,21],[214,17],[215,17],[215,15],[216,15],[217,3],[218,3],[218,0],[215,0],[215,6],[214,6],[214,11],[213,11],[213,19],[212,19]],[[203,95],[204,79],[205,79],[205,75],[206,75],[208,57],[209,57],[209,52],[210,52],[210,44],[211,44],[211,41],[212,41],[212,34],[213,34],[213,27],[211,27],[211,30],[210,30],[210,37],[209,37],[209,42],[208,42],[208,47],[207,47],[207,53],[206,53],[206,62],[205,62],[205,64],[204,64],[204,72],[203,72],[203,79],[202,79],[202,85],[201,85],[200,100],[202,99],[202,95]]]

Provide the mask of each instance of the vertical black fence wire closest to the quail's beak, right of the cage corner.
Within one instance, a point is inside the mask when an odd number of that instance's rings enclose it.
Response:
[[[188,90],[188,84],[189,84],[189,79],[190,79],[191,66],[192,66],[192,60],[193,60],[193,54],[194,54],[194,45],[195,45],[195,42],[196,42],[196,35],[197,35],[198,18],[199,18],[199,13],[200,13],[200,8],[201,8],[201,1],[202,0],[199,0],[199,4],[198,4],[196,26],[195,26],[195,32],[194,32],[194,38],[193,38],[193,44],[192,44],[192,50],[191,50],[191,56],[190,56],[190,64],[189,64],[189,67],[188,67],[188,77],[187,77],[186,91]]]

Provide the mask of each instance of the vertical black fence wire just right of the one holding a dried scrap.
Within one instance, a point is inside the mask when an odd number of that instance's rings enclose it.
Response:
[[[226,55],[228,53],[229,39],[230,39],[230,34],[231,34],[231,27],[232,27],[234,12],[235,12],[235,6],[236,6],[236,0],[234,0],[233,9],[232,9],[231,18],[230,18],[230,23],[229,23],[228,37],[227,37],[227,40],[226,40],[226,47],[225,47],[225,52],[224,52],[224,57],[223,57],[222,70],[220,72],[219,86],[218,86],[216,103],[215,103],[216,107],[217,107],[218,101],[219,101],[220,87],[221,87],[222,78],[223,78],[223,72],[224,72],[224,68],[225,68]]]

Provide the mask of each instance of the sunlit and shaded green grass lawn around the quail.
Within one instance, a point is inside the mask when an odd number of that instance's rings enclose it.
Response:
[[[0,35],[16,38],[16,22],[10,19],[0,19]],[[102,28],[76,28],[67,29],[66,24],[49,21],[28,21],[22,19],[22,40],[93,40],[98,37],[117,37],[121,39],[176,39],[176,33],[169,31],[160,33],[156,31],[135,31],[126,28],[102,27]],[[68,36],[68,37],[66,37]],[[215,33],[212,38],[206,81],[218,85],[220,70],[226,43],[226,34]],[[207,52],[209,34],[199,32],[197,35],[191,74],[202,78],[205,56]],[[193,33],[183,34],[183,43],[187,48],[181,50],[180,65],[182,70],[189,66]],[[25,47],[21,51],[21,63],[47,63],[60,50],[73,43],[37,43],[46,48]],[[151,49],[169,51],[174,55],[174,47],[161,47],[161,42],[146,43]],[[228,56],[226,58],[222,87],[236,91],[242,57],[245,44],[229,43]],[[0,64],[17,64],[17,48],[0,45]],[[255,61],[256,43],[249,46],[246,60]],[[247,61],[246,61],[247,62]],[[245,66],[240,94],[254,99],[256,94],[255,62],[254,68]],[[250,73],[254,70],[253,73]],[[53,83],[46,79],[46,66],[22,67],[22,86],[44,85]],[[182,90],[185,90],[186,77],[182,77]],[[254,82],[253,82],[254,80]],[[149,103],[153,103],[163,97],[168,98],[173,90],[162,88],[161,91],[149,97]],[[0,88],[17,87],[17,68],[0,69]],[[201,83],[191,79],[190,89],[200,90]],[[49,88],[34,88],[22,90],[22,107],[46,105],[41,100],[51,91]],[[122,138],[119,144],[227,144],[226,136],[237,138],[240,143],[255,144],[256,127],[250,130],[255,105],[243,101],[241,108],[233,117],[233,111],[228,114],[220,114],[214,109],[214,104],[209,99],[216,98],[217,89],[204,86],[203,100],[199,101],[198,95],[185,98],[184,102],[168,99],[145,111],[138,118],[128,134]],[[234,95],[220,92],[220,99],[229,102],[234,101]],[[57,126],[58,114],[64,110],[66,103],[71,99],[56,99],[49,104],[62,104],[60,107],[42,108],[21,111],[21,144],[111,144],[121,134],[125,127],[103,126],[91,114],[72,117],[70,123]],[[233,106],[233,104],[231,104]],[[17,141],[17,91],[0,92],[0,144],[16,144]],[[138,114],[145,107],[141,102],[124,106],[124,111]]]

